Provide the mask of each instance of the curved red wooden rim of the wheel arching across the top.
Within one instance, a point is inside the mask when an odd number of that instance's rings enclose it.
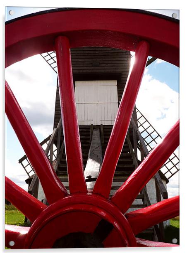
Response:
[[[135,51],[137,43],[146,40],[151,45],[150,56],[179,65],[179,24],[136,11],[85,8],[40,14],[7,24],[5,34],[5,66],[53,51],[54,39],[60,34],[69,38],[70,47]]]

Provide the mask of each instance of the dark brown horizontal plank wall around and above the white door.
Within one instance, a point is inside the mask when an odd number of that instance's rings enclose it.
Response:
[[[71,49],[73,80],[117,80],[120,102],[130,67],[130,52],[108,47],[81,47]],[[137,123],[137,115],[133,117]],[[60,97],[57,86],[54,128],[60,120]],[[130,126],[130,133],[131,133]]]

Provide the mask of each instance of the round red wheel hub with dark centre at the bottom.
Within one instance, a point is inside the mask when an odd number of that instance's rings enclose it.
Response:
[[[113,247],[116,241],[118,247],[136,246],[119,209],[100,196],[74,194],[41,213],[29,230],[25,248]]]

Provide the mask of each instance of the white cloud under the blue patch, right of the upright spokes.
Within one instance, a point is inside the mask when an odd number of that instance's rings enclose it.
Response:
[[[163,137],[179,118],[179,94],[146,68],[136,106]]]

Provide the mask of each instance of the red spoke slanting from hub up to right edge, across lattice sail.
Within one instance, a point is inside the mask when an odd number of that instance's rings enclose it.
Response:
[[[161,142],[153,148],[144,161],[141,162],[132,175],[130,175],[123,185],[115,192],[111,201],[125,213],[137,194],[156,174],[156,172],[158,172],[178,145],[179,120],[168,131]]]

